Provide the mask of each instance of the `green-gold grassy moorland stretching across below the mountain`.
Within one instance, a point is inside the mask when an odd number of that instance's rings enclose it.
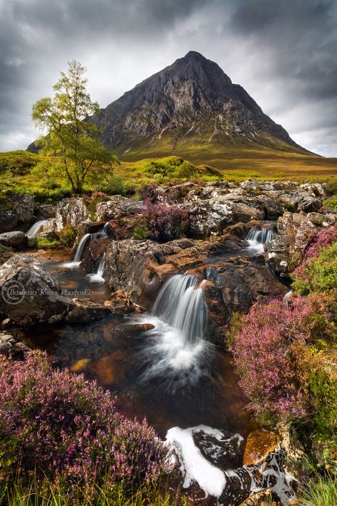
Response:
[[[188,162],[179,157],[162,157],[169,149],[165,141],[160,146],[151,144],[151,149],[144,148],[139,152],[122,156],[121,164],[115,167],[114,176],[107,188],[86,184],[83,192],[90,193],[93,189],[98,189],[107,194],[129,195],[143,184],[150,182],[167,184],[217,179],[321,181],[327,182],[332,189],[337,190],[337,159],[327,159],[296,149],[286,151],[284,146],[271,149],[258,144],[252,146],[249,144],[249,142],[235,145],[190,142],[176,153],[183,155]],[[144,156],[145,158],[139,159]],[[38,159],[38,154],[22,151],[0,153],[0,190],[2,186],[2,189],[11,188],[32,194],[38,204],[54,203],[71,196],[70,186],[65,178],[56,176],[53,181],[46,182],[41,174],[34,172]],[[51,157],[48,162],[53,164],[53,158]],[[336,196],[328,199],[327,204],[331,209],[336,209]]]

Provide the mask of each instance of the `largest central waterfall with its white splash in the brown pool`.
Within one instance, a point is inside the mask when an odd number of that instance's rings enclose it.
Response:
[[[175,275],[159,292],[152,314],[140,317],[154,328],[140,352],[141,381],[158,380],[171,392],[210,374],[213,345],[204,339],[208,323],[203,285],[192,275]]]

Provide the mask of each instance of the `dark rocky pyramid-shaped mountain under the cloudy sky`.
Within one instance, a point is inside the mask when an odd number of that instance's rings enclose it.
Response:
[[[305,153],[217,63],[190,51],[109,104],[92,121],[122,159],[240,147]],[[307,153],[307,152],[306,152]]]

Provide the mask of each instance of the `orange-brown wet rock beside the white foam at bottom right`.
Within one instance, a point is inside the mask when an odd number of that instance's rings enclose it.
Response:
[[[264,431],[262,428],[257,428],[248,434],[245,446],[245,453],[243,455],[244,465],[256,465],[262,460],[267,458],[269,453],[277,449],[281,437],[279,434]]]

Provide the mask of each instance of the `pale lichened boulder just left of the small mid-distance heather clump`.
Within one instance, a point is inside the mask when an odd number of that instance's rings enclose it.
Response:
[[[122,195],[114,195],[111,200],[97,204],[96,216],[98,220],[109,221],[123,216],[141,214],[143,211],[144,202],[127,199]]]

